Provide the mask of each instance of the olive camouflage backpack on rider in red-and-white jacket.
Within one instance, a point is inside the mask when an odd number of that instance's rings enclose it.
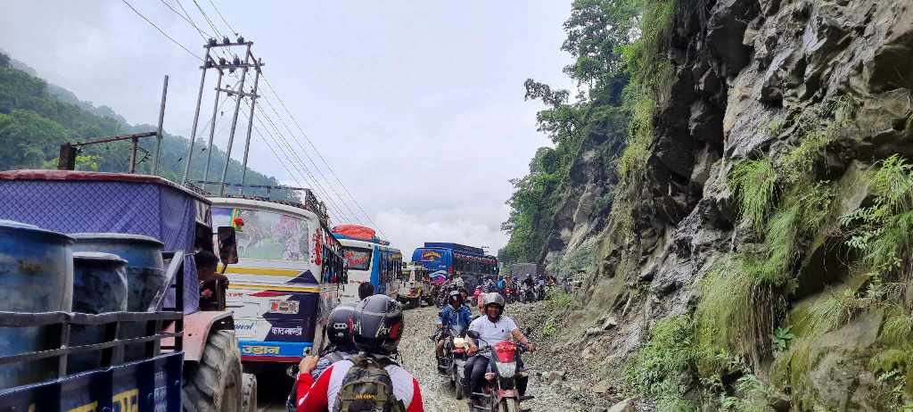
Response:
[[[405,412],[403,401],[394,396],[394,383],[385,366],[386,358],[352,356],[352,367],[342,379],[333,412]]]

